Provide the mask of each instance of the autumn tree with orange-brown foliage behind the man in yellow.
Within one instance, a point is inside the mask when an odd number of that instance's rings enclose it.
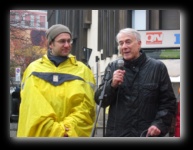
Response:
[[[45,29],[40,29],[41,22],[39,28],[30,27],[31,16],[38,15],[28,10],[10,10],[10,77],[15,76],[15,67],[21,67],[23,74],[30,62],[47,51]]]

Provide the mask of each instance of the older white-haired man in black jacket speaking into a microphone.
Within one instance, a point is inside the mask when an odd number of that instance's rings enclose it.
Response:
[[[176,110],[176,97],[166,66],[141,50],[137,30],[120,30],[116,41],[122,57],[107,65],[102,83],[95,91],[96,103],[102,101],[103,108],[109,106],[105,136],[140,137],[144,133],[165,136]],[[124,62],[123,67],[120,60]]]

